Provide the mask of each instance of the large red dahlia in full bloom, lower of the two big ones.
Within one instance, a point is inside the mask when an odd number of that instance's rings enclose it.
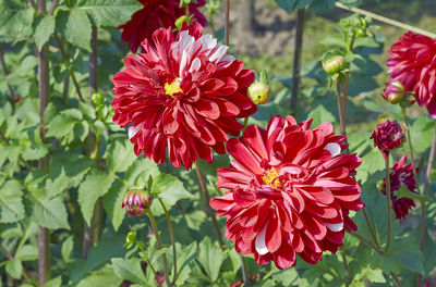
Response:
[[[252,125],[227,144],[234,160],[218,169],[218,187],[228,191],[210,207],[227,216],[235,250],[259,264],[287,269],[296,253],[314,264],[323,251],[337,251],[344,229],[356,229],[348,213],[364,207],[352,177],[361,159],[340,154],[346,137],[330,123],[311,123],[275,116],[267,130]]]

